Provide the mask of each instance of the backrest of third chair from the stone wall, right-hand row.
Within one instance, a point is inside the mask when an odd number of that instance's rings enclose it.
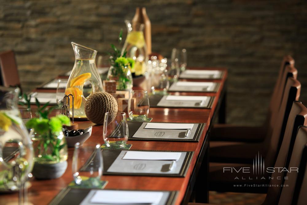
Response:
[[[266,137],[263,144],[263,150],[261,151],[262,155],[266,156],[266,167],[271,167],[276,161],[277,154],[281,145],[279,142],[282,141],[286,133],[286,125],[290,115],[290,110],[293,105],[293,101],[298,100],[300,93],[301,83],[293,77],[288,77],[285,86],[285,92],[282,97],[282,103],[279,107],[278,116],[272,119],[275,122],[273,133],[271,136]],[[288,130],[287,132],[289,132]]]

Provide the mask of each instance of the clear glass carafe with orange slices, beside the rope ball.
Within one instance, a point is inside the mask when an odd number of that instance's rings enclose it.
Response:
[[[74,96],[74,117],[86,119],[84,104],[87,97],[91,93],[103,91],[95,63],[97,51],[74,42],[72,42],[72,48],[76,60],[66,85],[65,94]],[[70,98],[70,115],[72,116],[72,98]]]

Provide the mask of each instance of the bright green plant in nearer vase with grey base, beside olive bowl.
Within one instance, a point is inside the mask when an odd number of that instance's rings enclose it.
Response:
[[[27,100],[29,98],[27,97]],[[49,118],[50,112],[57,106],[48,107],[49,102],[41,106],[35,99],[37,105],[36,118],[30,119],[26,123],[28,129],[34,129],[37,138],[37,150],[35,152],[41,161],[60,162],[60,151],[66,146],[62,139],[57,136],[62,132],[63,125],[69,125],[70,120],[67,116],[57,115]],[[37,160],[37,159],[36,159]]]

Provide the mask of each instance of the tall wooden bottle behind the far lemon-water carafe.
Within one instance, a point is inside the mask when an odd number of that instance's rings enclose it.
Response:
[[[137,7],[135,11],[135,15],[132,19],[132,24],[134,22],[144,24],[144,38],[147,46],[147,54],[151,54],[151,23],[146,14],[145,7]]]

